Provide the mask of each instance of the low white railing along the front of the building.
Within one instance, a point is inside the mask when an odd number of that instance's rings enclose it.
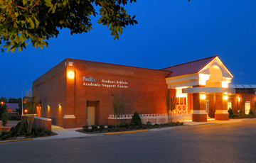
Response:
[[[132,119],[132,114],[124,114],[120,115],[120,119]],[[146,124],[146,122],[151,122],[152,124],[160,124],[160,123],[167,123],[168,117],[167,114],[139,114],[139,116],[142,118],[142,123]],[[119,116],[117,116],[119,118]],[[110,115],[108,119],[114,119],[114,115]],[[192,114],[186,113],[186,114],[175,114],[172,116],[172,121],[180,121],[183,122],[184,120],[192,120]]]

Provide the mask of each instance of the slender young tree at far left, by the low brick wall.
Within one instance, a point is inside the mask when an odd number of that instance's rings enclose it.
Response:
[[[39,96],[38,92],[33,89],[32,94],[31,91],[26,93],[26,104],[25,109],[27,110],[25,118],[26,130],[27,133],[31,133],[34,115],[36,113],[36,107],[38,106]]]

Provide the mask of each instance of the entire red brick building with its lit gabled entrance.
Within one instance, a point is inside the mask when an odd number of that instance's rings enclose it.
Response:
[[[124,115],[166,113],[167,89],[176,94],[175,114],[192,114],[193,121],[208,116],[228,120],[228,88],[233,75],[218,56],[165,69],[65,59],[33,81],[41,106],[38,116],[54,125],[78,128],[107,124],[113,114],[113,94],[124,94]]]

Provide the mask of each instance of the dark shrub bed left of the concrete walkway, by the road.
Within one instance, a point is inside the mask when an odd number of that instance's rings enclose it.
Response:
[[[33,128],[31,134],[26,132],[26,126],[24,123],[19,122],[16,126],[12,127],[9,131],[1,131],[0,142],[6,140],[22,140],[30,139],[35,137],[48,137],[58,135],[51,132],[50,130],[45,130],[44,128]]]

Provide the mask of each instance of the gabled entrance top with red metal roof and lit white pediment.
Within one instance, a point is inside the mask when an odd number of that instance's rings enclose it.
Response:
[[[183,86],[228,88],[228,84],[233,78],[233,74],[217,55],[162,70],[170,72],[166,75],[166,84],[169,89]],[[210,90],[212,89],[208,91]]]

